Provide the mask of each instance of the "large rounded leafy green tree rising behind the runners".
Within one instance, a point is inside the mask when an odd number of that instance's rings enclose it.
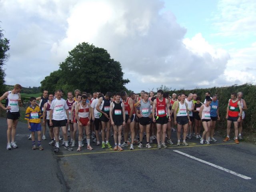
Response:
[[[86,92],[114,92],[125,89],[130,82],[123,79],[120,62],[110,58],[103,48],[80,43],[69,52],[69,56],[41,82],[42,89],[62,89],[64,92],[80,89]]]

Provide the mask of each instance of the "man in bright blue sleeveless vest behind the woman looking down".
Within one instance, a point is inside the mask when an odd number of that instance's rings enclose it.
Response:
[[[216,126],[216,121],[220,120],[219,116],[219,101],[218,101],[218,95],[214,95],[212,97],[212,103],[210,104],[211,106],[211,111],[210,111],[210,116],[211,116],[211,126],[210,126],[210,141],[216,142],[217,140],[213,137],[214,135],[214,130]],[[209,138],[208,138],[209,141]]]

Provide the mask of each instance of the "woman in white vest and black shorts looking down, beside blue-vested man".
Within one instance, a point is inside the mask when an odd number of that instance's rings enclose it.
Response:
[[[208,136],[210,135],[209,130],[211,126],[210,104],[212,102],[212,99],[210,98],[210,96],[206,96],[205,99],[206,99],[206,103],[200,107],[200,111],[199,111],[199,116],[202,120],[202,124],[204,127],[204,132],[202,134],[202,138],[200,139],[200,144],[204,144],[204,138],[205,138],[205,143],[210,144],[208,140]]]

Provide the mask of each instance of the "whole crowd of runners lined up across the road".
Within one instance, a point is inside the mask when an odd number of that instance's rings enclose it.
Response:
[[[20,99],[19,84],[14,86],[12,91],[4,93],[0,101],[6,100],[6,106],[0,103],[0,106],[7,110],[7,149],[17,148],[14,141],[16,126],[18,123],[19,106],[22,106]],[[78,130],[78,148],[82,150],[83,135],[86,135],[87,149],[93,150],[91,138],[96,145],[100,145],[100,135],[102,136],[102,148],[112,148],[109,138],[112,128],[114,136],[114,150],[122,151],[124,147],[130,145],[130,150],[134,149],[134,144],[138,148],[143,147],[143,137],[146,136],[146,148],[151,148],[152,140],[157,140],[157,148],[166,148],[165,140],[173,145],[171,140],[171,131],[176,131],[174,125],[177,125],[177,146],[187,146],[186,139],[195,136],[200,139],[200,144],[210,144],[215,142],[214,128],[216,121],[220,119],[218,110],[218,96],[210,97],[210,92],[206,92],[204,103],[200,96],[196,94],[178,94],[174,93],[170,97],[168,92],[158,90],[156,96],[154,92],[141,91],[139,94],[131,92],[129,95],[125,91],[112,94],[107,92],[105,95],[100,92],[94,92],[92,95],[80,90],[68,92],[67,100],[64,100],[63,92],[56,90],[54,94],[48,94],[44,90],[43,96],[30,99],[29,110],[26,112],[25,119],[28,120],[28,128],[32,132],[32,149],[35,147],[34,131],[31,129],[35,118],[42,116],[43,136],[46,139],[46,124],[49,127],[49,136],[51,141],[49,145],[55,146],[54,152],[60,151],[60,128],[62,129],[64,148],[69,151],[76,146],[76,132]],[[234,140],[239,143],[242,139],[242,121],[244,111],[247,109],[246,102],[242,99],[242,92],[232,93],[227,107],[227,136],[224,141],[230,140],[230,126],[232,122],[235,128]],[[38,111],[35,110],[34,103],[38,100]],[[37,113],[37,114],[35,114]],[[42,113],[42,115],[41,115]],[[154,115],[153,115],[154,114]],[[38,120],[36,121],[38,122]],[[201,136],[201,125],[204,128]],[[68,127],[70,131],[70,142],[68,141]],[[183,130],[183,132],[182,132]],[[41,133],[41,126],[36,128],[38,135]],[[139,134],[137,140],[136,134]],[[130,138],[129,138],[130,134]],[[121,144],[122,136],[124,142]],[[38,136],[38,148],[43,150],[40,137]]]

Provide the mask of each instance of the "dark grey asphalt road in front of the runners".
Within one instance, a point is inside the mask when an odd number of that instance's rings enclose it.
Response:
[[[121,152],[93,143],[92,151],[77,152],[76,146],[70,152],[62,146],[55,154],[49,140],[42,141],[43,151],[32,150],[22,122],[16,132],[18,148],[6,150],[6,127],[6,119],[0,118],[0,192],[256,191],[255,144],[224,143],[216,137],[217,142],[201,145],[192,138],[189,146],[160,150],[155,141],[151,149],[135,145],[135,150]]]

